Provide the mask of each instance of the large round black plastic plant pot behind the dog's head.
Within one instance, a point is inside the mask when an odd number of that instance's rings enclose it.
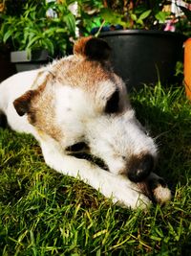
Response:
[[[146,30],[101,33],[112,48],[112,62],[128,89],[141,84],[175,81],[175,67],[183,58],[184,35]]]

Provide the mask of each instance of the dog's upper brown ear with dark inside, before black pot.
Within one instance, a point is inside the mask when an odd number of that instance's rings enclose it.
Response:
[[[81,37],[74,44],[74,55],[81,55],[91,60],[108,60],[111,48],[106,41],[93,36]]]

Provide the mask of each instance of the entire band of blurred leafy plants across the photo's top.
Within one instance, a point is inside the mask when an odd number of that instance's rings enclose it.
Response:
[[[47,49],[51,56],[70,53],[78,35],[94,28],[164,30],[191,35],[189,8],[168,0],[0,0],[0,44],[12,50]],[[190,0],[184,0],[190,6]],[[172,12],[179,6],[181,14]],[[106,28],[107,29],[107,28]],[[97,31],[96,30],[96,31]],[[1,47],[2,48],[2,47]]]

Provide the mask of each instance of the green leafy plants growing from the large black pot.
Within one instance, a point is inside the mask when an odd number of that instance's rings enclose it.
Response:
[[[99,15],[106,23],[119,24],[127,29],[161,29],[170,12],[163,11],[169,3],[163,1],[105,1]]]

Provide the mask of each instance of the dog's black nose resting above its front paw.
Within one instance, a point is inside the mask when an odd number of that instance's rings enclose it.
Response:
[[[133,182],[145,179],[154,168],[154,157],[151,154],[133,156],[128,164],[128,177]]]

